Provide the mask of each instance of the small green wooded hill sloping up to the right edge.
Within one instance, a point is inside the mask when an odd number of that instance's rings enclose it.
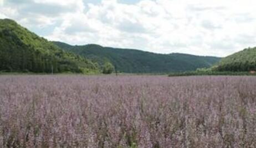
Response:
[[[216,66],[216,71],[256,71],[256,47],[244,49],[223,58]]]

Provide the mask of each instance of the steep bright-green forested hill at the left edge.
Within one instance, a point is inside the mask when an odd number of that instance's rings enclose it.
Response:
[[[95,72],[84,57],[66,52],[11,19],[0,19],[0,71]]]

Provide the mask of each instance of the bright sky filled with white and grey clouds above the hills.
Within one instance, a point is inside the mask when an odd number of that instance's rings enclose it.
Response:
[[[0,0],[11,18],[72,45],[227,56],[256,46],[252,0]]]

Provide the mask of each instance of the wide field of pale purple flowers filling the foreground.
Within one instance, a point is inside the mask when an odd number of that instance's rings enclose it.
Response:
[[[256,147],[256,77],[0,76],[0,147]]]

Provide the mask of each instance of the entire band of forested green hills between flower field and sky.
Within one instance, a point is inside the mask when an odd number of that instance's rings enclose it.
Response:
[[[73,46],[48,41],[11,19],[0,19],[0,72],[169,73],[196,71],[198,68],[220,72],[256,71],[256,47],[221,59],[155,54],[96,44]]]

